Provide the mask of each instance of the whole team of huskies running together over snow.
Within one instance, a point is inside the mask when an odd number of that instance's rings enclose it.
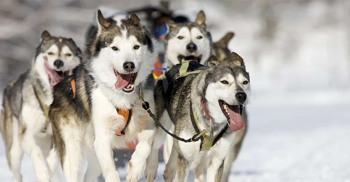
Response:
[[[59,181],[59,163],[67,182],[120,182],[113,149],[136,140],[127,182],[154,181],[163,144],[165,181],[187,181],[189,170],[195,181],[228,181],[250,97],[244,61],[228,49],[233,33],[213,43],[203,11],[195,22],[168,21],[170,68],[154,80],[157,41],[138,16],[98,10],[97,20],[84,52],[43,31],[31,67],[6,87],[0,129],[13,181],[25,152],[39,182]]]

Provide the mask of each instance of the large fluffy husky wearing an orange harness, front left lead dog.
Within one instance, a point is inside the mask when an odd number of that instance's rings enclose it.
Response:
[[[142,90],[154,111],[151,71],[156,41],[135,14],[104,18],[98,10],[97,20],[84,61],[72,77],[55,86],[49,112],[54,144],[67,182],[82,180],[84,156],[88,163],[85,181],[103,173],[106,181],[120,182],[112,149],[137,139],[126,176],[134,182],[142,177],[156,133],[138,96]]]

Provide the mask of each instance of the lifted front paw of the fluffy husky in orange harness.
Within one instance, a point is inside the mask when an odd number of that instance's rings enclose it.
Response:
[[[126,168],[126,182],[136,182],[141,179],[142,173],[144,173],[145,163],[135,162],[130,160],[128,167]]]

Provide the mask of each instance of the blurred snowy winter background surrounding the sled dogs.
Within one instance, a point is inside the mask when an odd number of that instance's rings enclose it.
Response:
[[[159,2],[0,1],[1,90],[28,69],[44,29],[83,48],[99,5]],[[230,181],[350,181],[350,1],[172,1],[170,9],[190,19],[203,9],[214,41],[234,31],[229,48],[250,72],[249,128]],[[11,181],[0,148],[1,181]],[[22,174],[35,181],[28,157]]]

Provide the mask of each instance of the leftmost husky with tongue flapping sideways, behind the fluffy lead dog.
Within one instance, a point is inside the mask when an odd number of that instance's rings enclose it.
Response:
[[[5,89],[0,129],[13,181],[22,181],[23,151],[33,161],[37,181],[50,181],[45,157],[52,147],[51,124],[47,118],[47,106],[52,103],[51,88],[80,63],[80,53],[71,38],[54,37],[43,31],[31,68]]]

